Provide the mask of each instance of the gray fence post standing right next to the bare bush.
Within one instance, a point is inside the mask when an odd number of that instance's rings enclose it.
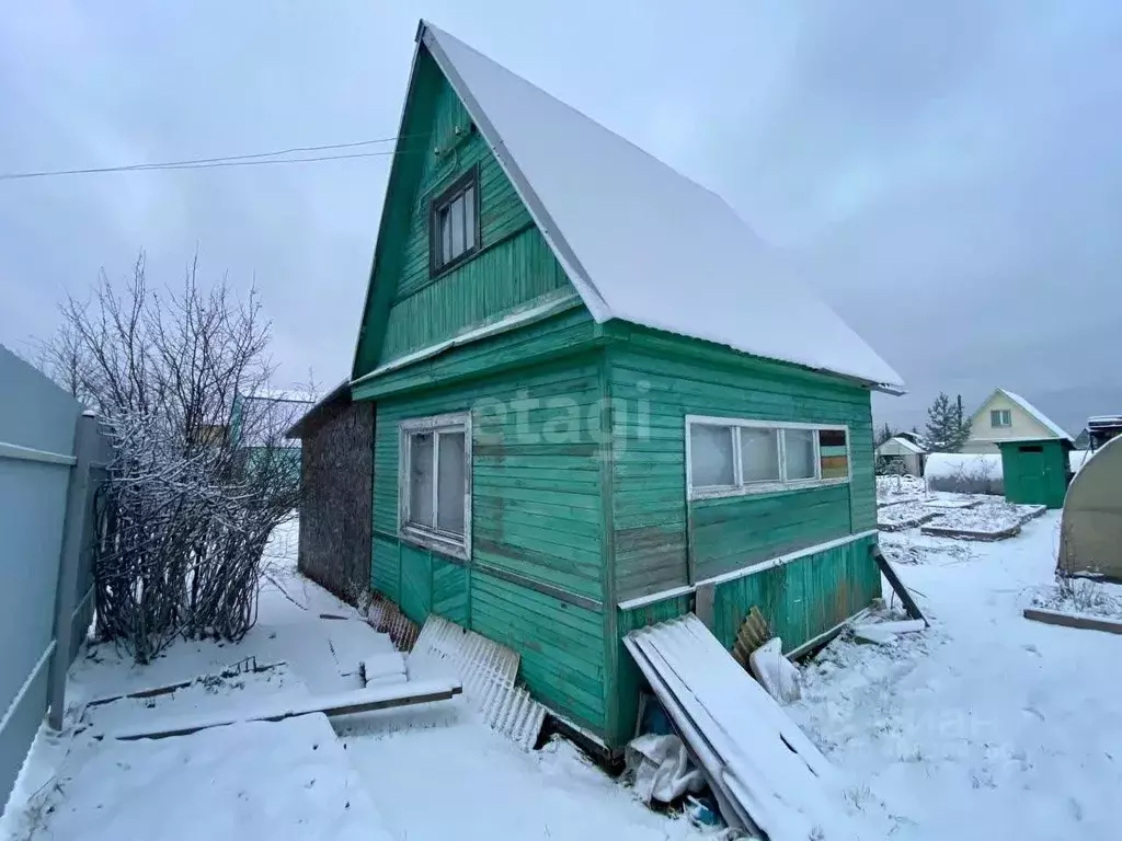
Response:
[[[70,668],[71,635],[74,631],[74,602],[77,599],[77,567],[82,552],[82,535],[89,509],[90,462],[98,451],[98,418],[83,412],[74,429],[74,466],[66,487],[66,519],[63,523],[63,546],[58,557],[58,585],[55,590],[55,653],[50,658],[47,724],[62,730],[66,711],[66,672]]]

